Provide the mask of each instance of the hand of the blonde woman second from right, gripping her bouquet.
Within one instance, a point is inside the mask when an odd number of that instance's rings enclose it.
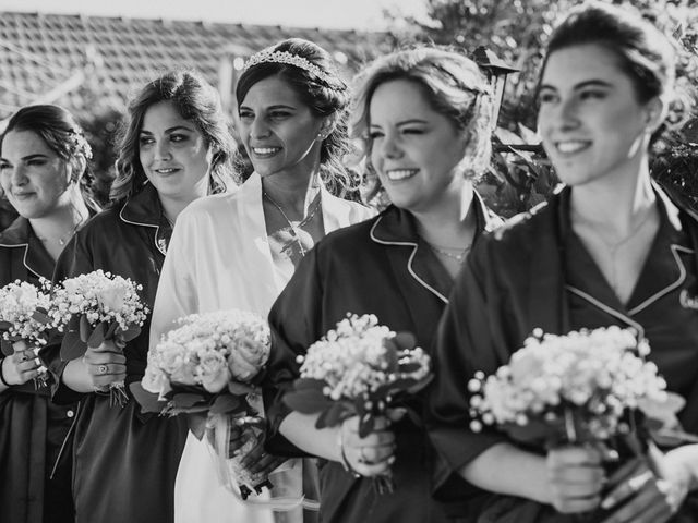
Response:
[[[359,417],[345,419],[339,427],[339,446],[349,467],[362,476],[378,476],[395,462],[395,435],[390,422],[377,417],[374,429],[365,438],[359,436]]]

